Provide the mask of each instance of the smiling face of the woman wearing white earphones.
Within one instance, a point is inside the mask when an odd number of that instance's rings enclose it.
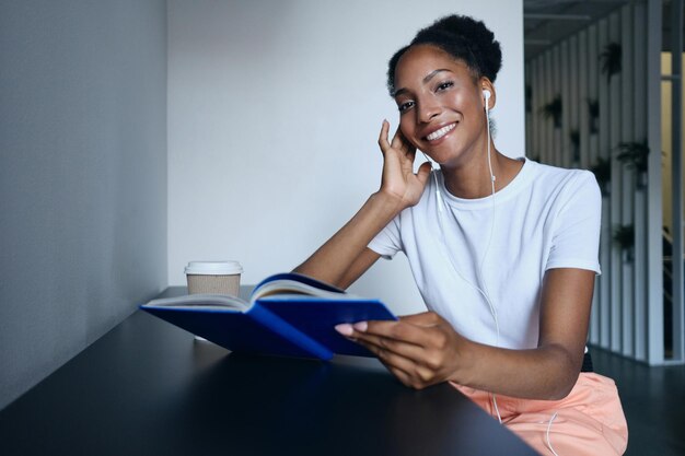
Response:
[[[464,164],[487,145],[484,81],[434,46],[409,49],[395,69],[404,137],[443,166]]]

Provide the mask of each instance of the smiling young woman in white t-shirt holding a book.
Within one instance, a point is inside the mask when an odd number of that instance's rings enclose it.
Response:
[[[501,154],[489,110],[501,50],[448,16],[390,60],[399,128],[379,145],[381,188],[295,271],[347,288],[404,252],[430,312],[337,330],[405,385],[451,382],[541,453],[623,454],[614,383],[583,372],[597,262],[593,175]],[[429,162],[414,172],[419,150]],[[585,369],[587,371],[587,369]]]

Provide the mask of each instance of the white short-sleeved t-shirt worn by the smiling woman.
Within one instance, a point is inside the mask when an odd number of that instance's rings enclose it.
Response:
[[[404,252],[428,308],[461,335],[503,348],[535,348],[545,271],[600,273],[602,197],[594,175],[525,160],[507,187],[480,199],[456,198],[440,172],[436,177],[442,201],[431,175],[420,201],[369,248],[387,258]]]

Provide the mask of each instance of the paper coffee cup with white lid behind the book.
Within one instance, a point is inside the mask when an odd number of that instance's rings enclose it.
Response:
[[[237,296],[243,268],[237,261],[190,261],[185,268],[188,294]]]

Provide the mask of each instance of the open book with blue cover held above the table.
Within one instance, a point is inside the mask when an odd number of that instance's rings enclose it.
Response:
[[[340,323],[397,319],[379,300],[353,296],[306,276],[279,273],[255,287],[249,302],[220,294],[152,300],[146,312],[237,352],[329,360],[372,356],[340,336]]]

